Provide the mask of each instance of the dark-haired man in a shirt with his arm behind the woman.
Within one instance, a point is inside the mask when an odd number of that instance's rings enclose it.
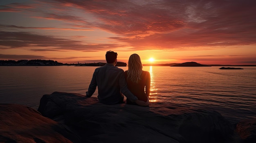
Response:
[[[91,97],[98,86],[98,99],[101,103],[124,103],[125,95],[130,101],[140,106],[147,106],[148,103],[138,100],[138,98],[128,90],[124,70],[115,66],[117,64],[117,53],[107,51],[106,61],[107,64],[105,66],[95,69],[88,92],[86,92],[86,97]]]

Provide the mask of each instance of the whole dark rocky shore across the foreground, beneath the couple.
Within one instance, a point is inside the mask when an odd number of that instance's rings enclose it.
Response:
[[[43,95],[38,111],[0,104],[0,142],[251,143],[256,139],[256,120],[236,127],[215,111],[161,103],[106,105],[95,97],[54,92]]]

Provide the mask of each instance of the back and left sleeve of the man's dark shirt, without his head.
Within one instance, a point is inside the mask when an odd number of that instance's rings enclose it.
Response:
[[[92,96],[98,86],[98,99],[101,103],[121,103],[124,100],[124,96],[121,95],[120,88],[127,88],[124,81],[124,70],[115,67],[113,64],[106,64],[105,66],[96,68],[88,88],[87,96]]]

